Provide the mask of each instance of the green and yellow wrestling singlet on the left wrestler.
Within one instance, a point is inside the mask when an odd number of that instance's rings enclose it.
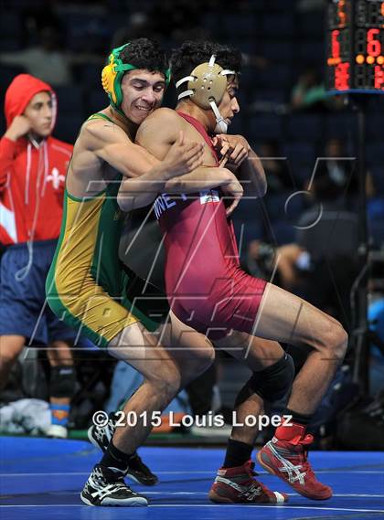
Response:
[[[121,180],[118,175],[92,197],[76,198],[65,190],[59,243],[46,282],[53,312],[99,346],[135,322],[148,330],[158,326],[126,295],[130,277],[119,260],[124,216],[116,200]]]

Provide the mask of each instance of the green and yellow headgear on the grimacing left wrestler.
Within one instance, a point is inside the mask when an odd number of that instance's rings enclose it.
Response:
[[[112,107],[116,111],[120,112],[124,117],[126,116],[121,109],[123,102],[123,76],[125,72],[128,72],[129,70],[139,69],[130,63],[123,63],[122,59],[120,58],[120,54],[123,49],[129,45],[129,43],[126,43],[122,45],[122,47],[113,48],[108,58],[108,65],[106,65],[101,71],[102,88],[107,92]],[[169,81],[171,80],[171,71],[170,69],[166,69],[161,70],[161,72],[165,75],[166,88],[169,85]]]

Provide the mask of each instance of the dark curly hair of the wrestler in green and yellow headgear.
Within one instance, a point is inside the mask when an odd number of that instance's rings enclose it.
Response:
[[[141,37],[129,42],[120,53],[123,63],[130,63],[137,69],[163,72],[168,68],[165,52],[160,44],[149,38]]]

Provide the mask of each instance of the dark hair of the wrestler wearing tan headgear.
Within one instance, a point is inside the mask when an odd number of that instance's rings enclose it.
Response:
[[[211,41],[186,41],[180,48],[172,51],[173,80],[176,82],[189,76],[197,65],[209,61],[212,54],[216,55],[216,63],[220,67],[240,73],[242,57],[239,49]]]

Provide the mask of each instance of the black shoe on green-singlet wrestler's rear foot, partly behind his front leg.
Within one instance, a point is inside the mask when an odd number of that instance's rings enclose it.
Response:
[[[88,430],[88,439],[95,448],[99,448],[103,453],[107,451],[110,440],[113,437],[116,419],[112,413],[106,426],[95,426],[93,424]],[[155,483],[158,483],[156,475],[144,464],[137,452],[133,453],[125,476],[131,478],[133,482],[143,485],[155,485]]]

